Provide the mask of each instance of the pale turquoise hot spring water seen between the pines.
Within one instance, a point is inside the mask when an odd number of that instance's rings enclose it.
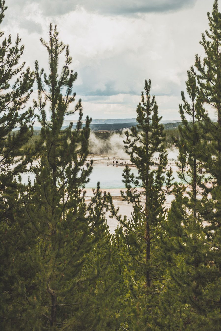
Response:
[[[92,173],[90,175],[90,181],[86,184],[86,188],[96,188],[97,182],[100,182],[101,189],[120,189],[124,188],[124,183],[122,183],[122,173],[124,167],[122,166],[106,166],[106,165],[96,165],[93,166]],[[131,168],[131,171],[135,175],[138,174],[137,168]],[[28,175],[30,176],[31,182],[34,181],[33,173],[24,173],[22,175],[23,183],[27,184]],[[177,172],[173,172],[175,180],[178,180]]]

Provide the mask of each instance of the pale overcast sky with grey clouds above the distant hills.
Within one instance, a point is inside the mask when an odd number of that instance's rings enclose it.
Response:
[[[69,44],[74,91],[84,115],[134,118],[145,79],[152,81],[159,114],[179,119],[180,92],[195,54],[203,55],[213,0],[6,0],[1,29],[25,44],[23,60],[47,71],[49,23]],[[33,92],[35,96],[36,91]],[[75,118],[75,117],[73,117]]]

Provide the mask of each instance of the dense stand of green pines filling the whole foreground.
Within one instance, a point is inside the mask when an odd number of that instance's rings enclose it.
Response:
[[[6,10],[0,0],[0,27]],[[21,38],[13,43],[0,29],[1,330],[221,330],[218,0],[208,24],[200,41],[205,56],[195,56],[181,92],[180,124],[160,123],[146,80],[137,125],[122,133],[138,169],[126,166],[122,175],[130,218],[99,182],[85,200],[91,118],[76,100],[77,72],[57,27],[50,24],[48,39],[39,41],[48,53],[45,69],[37,60],[27,68]],[[38,96],[28,108],[33,84]],[[77,125],[63,129],[72,114]],[[167,167],[168,146],[179,151],[177,182]],[[24,184],[24,172],[34,173],[34,182]],[[113,234],[107,213],[118,220]]]

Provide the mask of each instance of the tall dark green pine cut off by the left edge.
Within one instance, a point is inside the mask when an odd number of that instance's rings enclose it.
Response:
[[[5,1],[0,1],[0,24],[6,9]],[[11,330],[18,325],[24,309],[20,293],[25,276],[22,256],[31,240],[17,176],[27,171],[34,153],[27,147],[34,119],[27,102],[34,77],[24,62],[20,64],[24,51],[21,38],[17,36],[13,44],[11,36],[4,37],[2,30],[0,38],[0,328]]]

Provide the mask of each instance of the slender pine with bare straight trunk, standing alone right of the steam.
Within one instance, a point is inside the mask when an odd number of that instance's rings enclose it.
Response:
[[[130,328],[138,330],[146,327],[151,329],[151,313],[156,309],[160,288],[162,287],[161,271],[157,270],[158,244],[160,224],[164,217],[163,204],[166,193],[171,187],[172,171],[168,170],[167,153],[164,147],[165,135],[163,125],[159,123],[158,106],[155,96],[150,97],[151,82],[145,81],[145,95],[142,92],[141,103],[137,107],[137,127],[131,132],[126,131],[124,141],[126,153],[131,162],[138,168],[136,176],[129,166],[123,172],[123,182],[126,193],[121,191],[124,201],[133,203],[133,213],[130,219],[122,219],[115,210],[112,199],[109,201],[112,216],[125,227],[125,244],[128,253],[127,263],[128,284],[130,296],[134,298],[131,317],[127,323]],[[153,161],[159,153],[159,162]],[[163,187],[166,181],[166,187]],[[150,304],[151,302],[151,304]],[[131,320],[130,320],[131,318]]]

